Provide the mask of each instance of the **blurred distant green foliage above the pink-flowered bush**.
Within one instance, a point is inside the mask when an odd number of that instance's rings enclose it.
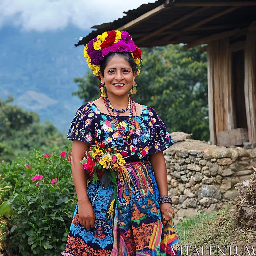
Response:
[[[38,114],[9,104],[12,100],[0,99],[0,160],[25,157],[34,148],[58,151],[68,143],[53,124],[40,124]]]

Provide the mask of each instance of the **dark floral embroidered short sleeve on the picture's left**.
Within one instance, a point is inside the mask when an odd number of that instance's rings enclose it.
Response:
[[[95,112],[90,103],[82,105],[71,122],[67,138],[92,143],[95,132]]]

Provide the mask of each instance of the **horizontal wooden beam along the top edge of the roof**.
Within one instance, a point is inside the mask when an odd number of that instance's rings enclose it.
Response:
[[[203,7],[203,6],[256,6],[256,1],[219,1],[219,2],[170,2],[173,7]]]

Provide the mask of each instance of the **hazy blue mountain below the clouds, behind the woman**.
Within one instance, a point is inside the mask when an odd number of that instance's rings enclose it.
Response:
[[[0,29],[0,98],[14,96],[13,104],[35,111],[61,132],[68,127],[82,101],[75,77],[87,73],[83,46],[74,47],[89,30],[67,27],[48,32]]]

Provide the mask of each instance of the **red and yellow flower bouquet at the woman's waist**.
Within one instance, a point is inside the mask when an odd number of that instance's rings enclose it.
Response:
[[[88,149],[86,156],[80,163],[83,164],[87,174],[92,177],[92,181],[97,182],[100,180],[105,172],[108,175],[108,179],[113,183],[113,201],[108,211],[110,213],[109,216],[113,216],[113,207],[117,196],[116,177],[122,166],[124,166],[125,160],[120,153],[117,153],[116,147],[108,148],[105,144],[99,144],[96,140],[95,145]]]

